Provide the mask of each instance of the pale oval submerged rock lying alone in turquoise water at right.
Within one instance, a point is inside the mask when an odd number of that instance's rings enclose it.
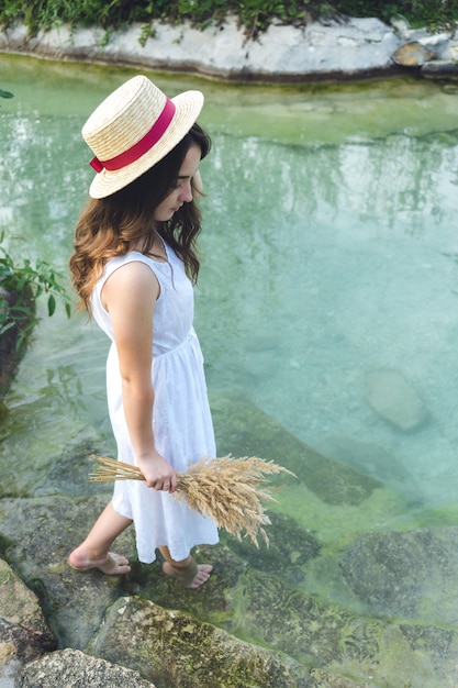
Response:
[[[372,409],[400,430],[416,430],[428,420],[425,404],[398,370],[371,370],[366,375],[366,386],[367,399]]]

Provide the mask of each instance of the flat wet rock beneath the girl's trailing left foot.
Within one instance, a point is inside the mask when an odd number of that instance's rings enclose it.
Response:
[[[83,650],[107,607],[123,595],[122,577],[80,574],[67,563],[105,503],[104,497],[0,500],[1,554],[40,598],[63,647]],[[134,553],[132,531],[120,537],[119,546]]]

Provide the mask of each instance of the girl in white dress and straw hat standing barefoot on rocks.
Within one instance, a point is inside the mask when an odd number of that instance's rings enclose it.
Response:
[[[214,522],[172,496],[176,471],[214,457],[203,359],[193,320],[199,273],[196,237],[200,160],[210,140],[196,123],[200,91],[168,99],[137,76],[92,113],[82,136],[97,175],[70,258],[74,285],[112,344],[107,362],[110,420],[118,457],[146,480],[116,481],[111,502],[69,556],[78,570],[129,573],[111,552],[134,524],[141,562],[161,552],[164,573],[198,588],[212,566],[191,548],[215,544]]]

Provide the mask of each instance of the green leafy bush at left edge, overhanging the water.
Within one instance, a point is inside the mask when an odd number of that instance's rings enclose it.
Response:
[[[0,336],[15,328],[18,331],[16,349],[30,339],[38,321],[35,303],[42,295],[47,295],[47,313],[53,315],[57,299],[64,301],[67,318],[70,317],[70,298],[58,281],[62,275],[45,260],[37,260],[35,266],[29,259],[22,265],[1,245],[4,234],[0,234]]]

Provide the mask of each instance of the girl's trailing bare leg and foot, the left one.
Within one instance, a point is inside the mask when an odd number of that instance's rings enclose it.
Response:
[[[107,504],[89,535],[68,557],[70,566],[77,570],[98,568],[109,576],[129,574],[131,567],[127,559],[110,552],[110,547],[131,523],[131,519],[114,511],[111,502]]]

